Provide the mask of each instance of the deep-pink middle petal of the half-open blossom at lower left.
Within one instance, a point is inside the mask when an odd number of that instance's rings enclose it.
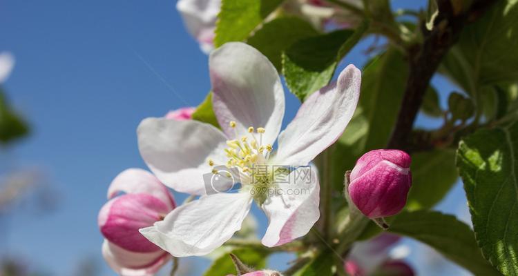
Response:
[[[103,206],[99,212],[99,228],[106,239],[125,250],[154,252],[160,248],[142,236],[139,229],[160,221],[169,210],[162,200],[152,195],[122,195]]]

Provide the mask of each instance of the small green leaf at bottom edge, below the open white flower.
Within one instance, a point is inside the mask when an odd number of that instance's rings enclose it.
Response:
[[[236,255],[244,264],[252,268],[265,268],[266,258],[269,255],[267,250],[251,250],[247,248],[240,248],[232,250],[233,255]],[[236,275],[236,266],[232,262],[230,255],[224,254],[216,259],[204,276],[221,276],[221,275]]]

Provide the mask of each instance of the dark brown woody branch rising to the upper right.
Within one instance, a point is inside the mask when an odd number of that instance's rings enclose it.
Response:
[[[430,85],[430,79],[446,52],[459,39],[466,23],[479,18],[496,1],[502,0],[475,0],[466,12],[459,13],[452,7],[450,0],[437,0],[439,15],[434,21],[434,28],[428,31],[423,22],[423,43],[407,49],[410,72],[396,126],[392,130],[387,148],[412,150],[408,147],[412,126],[423,103],[425,91]]]

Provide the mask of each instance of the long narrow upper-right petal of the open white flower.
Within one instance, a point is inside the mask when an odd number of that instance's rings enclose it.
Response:
[[[352,118],[360,96],[361,72],[347,66],[337,83],[314,92],[278,139],[278,164],[305,166],[331,146]]]

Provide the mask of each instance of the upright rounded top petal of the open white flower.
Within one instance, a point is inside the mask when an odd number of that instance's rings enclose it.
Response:
[[[235,137],[249,126],[266,128],[263,144],[274,144],[285,111],[284,90],[271,62],[255,48],[241,42],[226,43],[209,59],[213,108],[227,137]]]

